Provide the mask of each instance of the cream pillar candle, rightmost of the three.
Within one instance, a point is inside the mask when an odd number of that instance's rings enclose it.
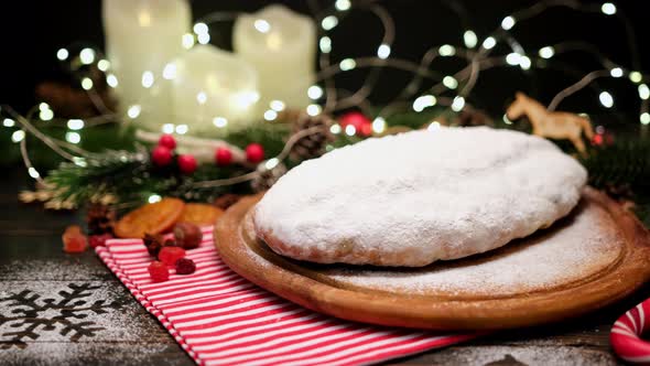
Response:
[[[311,18],[269,6],[237,19],[232,43],[235,52],[258,71],[262,110],[272,100],[292,108],[308,105],[316,61],[316,28]]]

